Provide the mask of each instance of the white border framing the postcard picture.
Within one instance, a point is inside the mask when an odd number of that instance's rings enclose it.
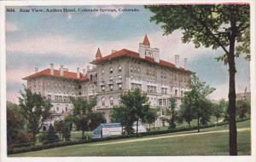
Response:
[[[19,162],[30,162],[30,161],[81,161],[81,160],[90,160],[90,162],[95,161],[131,161],[131,160],[140,160],[140,161],[148,161],[148,162],[155,162],[155,161],[256,161],[255,158],[255,100],[252,100],[252,120],[251,120],[251,129],[252,129],[252,155],[251,156],[169,156],[169,157],[65,157],[65,158],[9,158],[7,157],[7,150],[6,150],[6,57],[5,57],[5,7],[6,6],[26,6],[26,5],[36,5],[36,6],[46,6],[46,5],[59,5],[59,6],[67,6],[67,5],[107,5],[107,4],[153,4],[153,3],[250,3],[251,5],[251,56],[252,61],[250,65],[250,77],[251,77],[251,94],[252,99],[256,99],[256,87],[255,87],[255,78],[256,78],[256,57],[255,57],[255,2],[252,0],[172,0],[172,1],[163,1],[163,0],[148,0],[148,1],[140,1],[140,0],[97,0],[97,1],[3,1],[0,2],[0,50],[1,50],[1,159],[0,161],[19,161]]]

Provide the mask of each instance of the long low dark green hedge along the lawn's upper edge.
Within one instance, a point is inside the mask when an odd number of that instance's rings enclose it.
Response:
[[[237,119],[238,122],[246,121],[248,119]],[[207,125],[201,125],[199,128],[204,129],[204,128],[211,128],[214,126],[221,126],[224,124],[228,124],[228,122],[221,122],[218,124],[207,124]],[[188,130],[197,130],[197,126],[193,127],[184,127],[184,128],[178,128],[178,129],[169,129],[169,130],[157,130],[157,131],[148,131],[148,132],[143,132],[140,133],[140,136],[152,136],[152,135],[161,135],[161,134],[166,134],[166,133],[174,133],[174,132],[181,132],[181,131],[188,131]],[[77,144],[84,144],[84,143],[91,143],[91,142],[105,142],[109,140],[117,140],[117,139],[125,139],[125,138],[132,138],[136,137],[136,134],[132,135],[123,135],[123,136],[108,136],[105,138],[98,138],[98,139],[90,139],[88,141],[81,140],[77,142],[54,142],[54,143],[48,143],[44,145],[38,145],[38,146],[29,146],[26,148],[13,148],[8,150],[8,154],[15,154],[15,153],[26,153],[26,152],[31,152],[31,151],[39,151],[39,150],[44,150],[48,148],[57,148],[57,147],[65,147],[69,145],[77,145]]]

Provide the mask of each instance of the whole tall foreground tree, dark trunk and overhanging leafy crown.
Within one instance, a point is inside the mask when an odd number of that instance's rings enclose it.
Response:
[[[146,9],[154,13],[151,21],[160,24],[165,35],[182,30],[183,43],[193,42],[195,48],[223,49],[218,61],[229,66],[230,155],[237,155],[235,59],[241,54],[250,59],[249,4],[162,5]]]

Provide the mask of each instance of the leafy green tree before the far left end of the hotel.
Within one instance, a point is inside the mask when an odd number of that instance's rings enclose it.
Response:
[[[32,93],[31,90],[20,90],[20,113],[26,119],[28,132],[33,135],[33,142],[36,141],[36,135],[42,127],[44,119],[49,118],[49,111],[52,105],[41,95]]]

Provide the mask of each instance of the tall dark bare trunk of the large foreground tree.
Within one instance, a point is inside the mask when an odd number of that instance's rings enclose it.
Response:
[[[236,143],[236,63],[235,63],[235,37],[230,38],[230,54],[228,55],[230,72],[229,90],[229,124],[230,124],[230,155],[237,155]]]

